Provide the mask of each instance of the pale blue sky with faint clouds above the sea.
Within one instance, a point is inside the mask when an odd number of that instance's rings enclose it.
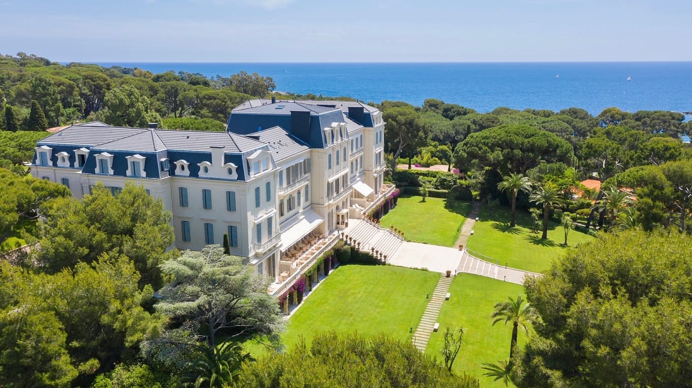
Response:
[[[57,61],[690,61],[690,0],[0,0]]]

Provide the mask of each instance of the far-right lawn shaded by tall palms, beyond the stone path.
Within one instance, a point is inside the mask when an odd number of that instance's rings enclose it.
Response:
[[[531,232],[531,216],[524,211],[517,211],[516,226],[509,227],[509,207],[498,206],[493,216],[488,215],[487,206],[480,211],[479,220],[475,223],[474,234],[468,238],[468,249],[499,260],[500,265],[525,271],[541,272],[550,267],[552,260],[563,255],[567,247],[563,246],[565,232],[562,226],[554,222],[548,225],[548,238],[540,240],[540,231]],[[594,237],[578,231],[570,231],[567,237],[569,246],[589,242]]]

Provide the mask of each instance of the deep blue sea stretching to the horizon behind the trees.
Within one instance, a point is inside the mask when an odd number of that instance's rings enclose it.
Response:
[[[594,115],[609,106],[630,112],[692,110],[692,62],[99,64],[155,73],[199,72],[208,77],[244,70],[272,77],[276,90],[286,92],[415,105],[436,98],[480,112],[498,106],[551,110],[576,106]]]

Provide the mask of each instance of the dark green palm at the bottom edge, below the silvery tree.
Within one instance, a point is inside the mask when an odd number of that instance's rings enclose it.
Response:
[[[219,347],[205,343],[199,345],[199,350],[188,362],[187,377],[194,380],[194,388],[226,387],[237,378],[242,363],[250,359],[237,342],[224,342]]]

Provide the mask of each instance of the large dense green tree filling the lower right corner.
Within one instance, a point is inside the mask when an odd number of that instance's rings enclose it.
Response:
[[[624,231],[569,251],[527,282],[542,322],[518,387],[685,387],[692,380],[692,237]]]

